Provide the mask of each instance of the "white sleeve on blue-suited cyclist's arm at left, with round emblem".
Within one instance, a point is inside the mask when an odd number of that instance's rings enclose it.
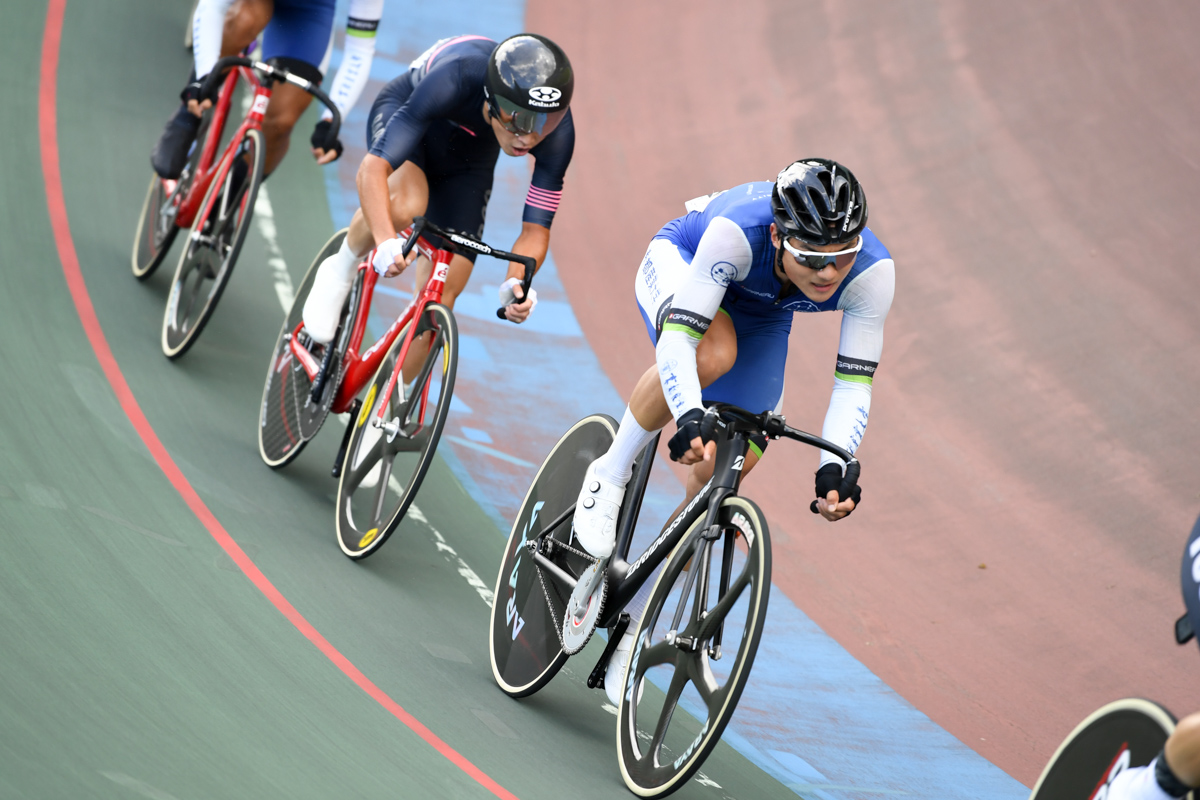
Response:
[[[703,408],[696,348],[721,306],[725,289],[749,273],[750,258],[750,242],[737,223],[725,217],[708,223],[654,350],[662,393],[676,420],[685,411]]]

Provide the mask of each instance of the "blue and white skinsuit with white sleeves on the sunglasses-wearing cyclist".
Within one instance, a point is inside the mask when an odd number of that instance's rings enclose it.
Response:
[[[854,265],[828,300],[814,302],[791,283],[785,287],[775,273],[770,241],[773,187],[770,181],[743,184],[691,200],[688,206],[694,210],[668,222],[650,242],[636,294],[655,343],[664,393],[677,420],[706,402],[779,411],[793,314],[841,311],[834,390],[822,435],[854,452],[866,429],[871,380],[892,305],[892,255],[868,228]],[[737,360],[701,391],[696,345],[719,312],[733,323]],[[760,455],[764,444],[755,443]],[[822,456],[822,464],[836,461]]]

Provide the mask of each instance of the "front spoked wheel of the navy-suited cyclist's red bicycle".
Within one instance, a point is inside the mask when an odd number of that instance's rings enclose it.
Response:
[[[450,413],[454,379],[458,369],[458,327],[454,314],[445,306],[431,302],[421,312],[420,318],[409,325],[414,323],[432,329],[433,338],[421,363],[421,371],[414,378],[412,387],[406,389],[407,399],[401,399],[394,405],[394,413],[388,415],[394,421],[403,421],[406,435],[397,435],[392,441],[388,441],[384,432],[376,428],[371,420],[383,403],[391,405],[397,398],[402,380],[396,381],[397,387],[392,390],[391,396],[384,397],[383,392],[391,379],[400,350],[404,345],[407,325],[379,363],[379,369],[367,387],[367,396],[358,419],[350,420],[354,431],[346,447],[342,476],[337,482],[336,522],[337,546],[352,559],[364,559],[376,553],[400,527],[433,461],[433,452],[437,450],[442,428]],[[420,335],[421,329],[418,331]],[[442,362],[440,371],[437,368],[438,361]],[[422,396],[427,398],[425,403],[428,421],[418,423],[414,428],[413,414],[420,411],[421,403],[418,401]],[[422,435],[419,439],[412,438],[418,434]],[[364,450],[365,441],[368,444]],[[402,453],[406,455],[398,471],[409,473],[407,483],[401,483],[397,477],[397,462]],[[378,473],[374,473],[377,467]],[[371,480],[373,473],[374,477]],[[362,488],[374,489],[373,509],[365,516],[354,507],[354,494]],[[385,512],[385,505],[391,506],[391,511]]]

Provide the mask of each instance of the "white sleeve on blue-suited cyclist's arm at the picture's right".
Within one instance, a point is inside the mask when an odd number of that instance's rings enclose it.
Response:
[[[850,452],[858,450],[866,433],[871,380],[883,353],[883,323],[894,293],[895,265],[884,259],[854,278],[838,301],[842,312],[841,341],[821,438]],[[836,456],[821,451],[821,467],[841,463]]]

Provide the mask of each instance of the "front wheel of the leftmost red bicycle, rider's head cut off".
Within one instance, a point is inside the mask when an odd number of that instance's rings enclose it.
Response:
[[[167,311],[162,319],[162,351],[168,359],[178,359],[191,349],[212,317],[212,312],[216,311],[221,294],[229,283],[238,253],[246,241],[251,217],[254,215],[258,187],[263,182],[263,133],[254,128],[246,131],[235,154],[250,149],[253,152],[252,162],[245,178],[245,187],[234,198],[232,207],[224,207],[222,197],[233,173],[232,163],[224,174],[218,174],[214,179],[205,193],[202,207],[209,205],[211,200],[209,212],[197,215],[187,234],[184,252],[179,257],[175,277],[170,282],[167,296]],[[234,158],[238,157],[240,156],[234,155]],[[188,289],[190,283],[191,289]],[[209,284],[206,293],[203,291],[205,284]],[[204,294],[203,301],[199,309],[196,309],[196,302],[202,294]],[[181,305],[182,318],[180,318]]]

